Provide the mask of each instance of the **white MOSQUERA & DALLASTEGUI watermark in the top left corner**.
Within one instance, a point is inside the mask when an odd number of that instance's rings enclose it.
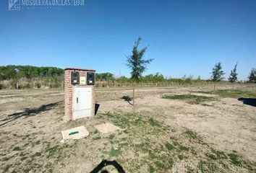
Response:
[[[51,9],[56,6],[84,6],[85,0],[9,0],[9,10]]]

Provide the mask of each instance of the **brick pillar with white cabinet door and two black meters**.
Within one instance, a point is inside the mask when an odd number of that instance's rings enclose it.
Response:
[[[95,70],[65,68],[65,117],[76,120],[95,115]]]

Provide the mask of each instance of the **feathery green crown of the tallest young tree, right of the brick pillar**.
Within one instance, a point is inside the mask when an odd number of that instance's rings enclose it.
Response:
[[[139,49],[141,37],[135,41],[135,45],[132,49],[132,56],[127,56],[127,66],[131,68],[131,75],[132,80],[139,81],[142,73],[147,69],[147,65],[153,61],[153,59],[145,60],[143,58],[145,51],[147,50],[148,46]]]

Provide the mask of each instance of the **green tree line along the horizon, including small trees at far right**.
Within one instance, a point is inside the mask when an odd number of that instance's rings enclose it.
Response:
[[[235,82],[238,80],[236,72],[237,63],[234,69],[231,70],[228,80],[230,82]],[[211,72],[212,76],[210,79],[202,80],[200,76],[193,78],[193,76],[184,75],[182,78],[167,78],[163,74],[148,74],[145,76],[140,76],[137,81],[140,82],[161,82],[161,81],[173,81],[176,83],[189,83],[190,81],[221,81],[225,73],[222,70],[221,63],[216,63]],[[106,73],[96,73],[96,81],[112,81],[112,82],[134,82],[135,80],[128,78],[127,76],[116,77],[110,72]],[[10,80],[10,79],[35,79],[35,78],[53,78],[64,76],[64,69],[56,67],[37,67],[37,66],[0,66],[0,80]],[[252,68],[248,76],[249,82],[256,81],[256,68]]]

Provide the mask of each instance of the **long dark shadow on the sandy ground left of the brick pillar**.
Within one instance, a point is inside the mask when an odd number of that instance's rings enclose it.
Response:
[[[35,116],[40,112],[45,112],[45,111],[51,110],[53,107],[60,104],[61,102],[63,102],[63,101],[50,103],[48,105],[42,105],[40,107],[33,108],[33,109],[26,108],[23,112],[17,112],[17,113],[13,113],[11,115],[7,115],[7,118],[4,118],[4,120],[1,120],[1,121],[4,121],[4,123],[1,123],[0,126],[5,125],[13,120],[16,120],[19,117]]]

